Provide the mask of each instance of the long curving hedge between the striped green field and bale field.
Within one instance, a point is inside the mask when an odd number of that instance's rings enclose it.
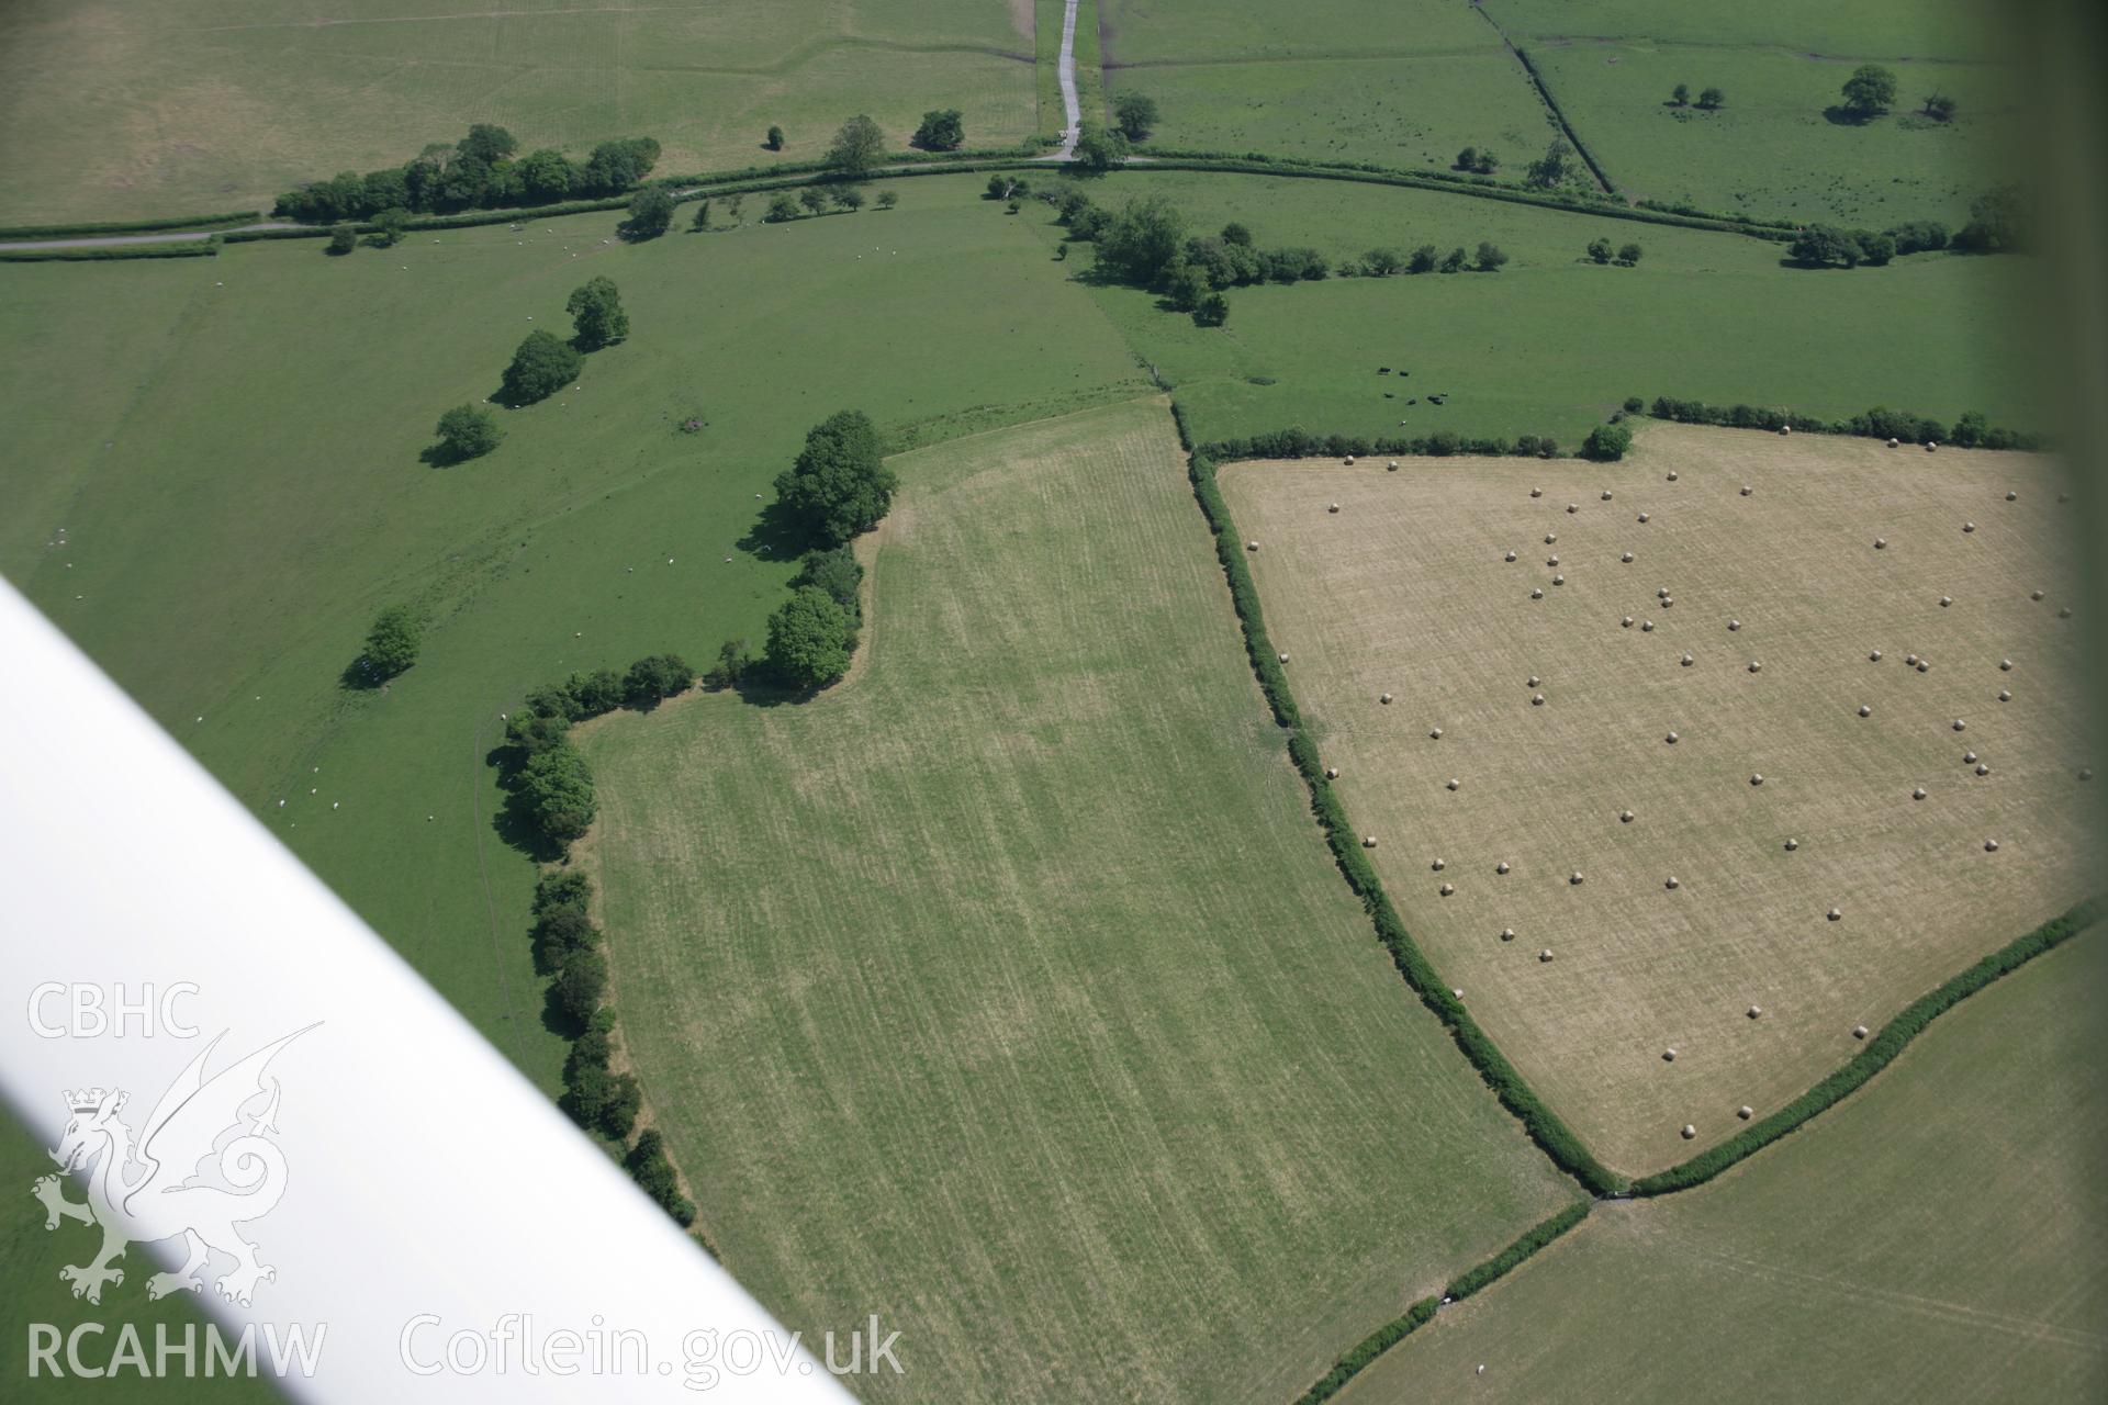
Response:
[[[1187,449],[1187,476],[1193,482],[1193,497],[1199,501],[1202,516],[1208,518],[1208,527],[1214,531],[1214,554],[1223,562],[1231,605],[1237,611],[1237,621],[1244,626],[1244,647],[1258,678],[1258,691],[1273,710],[1273,720],[1288,731],[1288,758],[1309,786],[1311,813],[1318,817],[1318,828],[1324,830],[1326,847],[1330,847],[1332,862],[1347,878],[1347,887],[1362,899],[1362,910],[1374,925],[1377,939],[1391,954],[1391,963],[1404,975],[1406,986],[1433,1011],[1457,1043],[1457,1049],[1463,1051],[1471,1068],[1478,1070],[1478,1076],[1501,1100],[1501,1106],[1522,1123],[1522,1129],[1537,1148],[1594,1194],[1623,1190],[1623,1178],[1596,1161],[1573,1129],[1524,1083],[1516,1066],[1507,1062],[1507,1055],[1501,1053],[1469,1011],[1465,1011],[1463,1001],[1450,994],[1450,988],[1436,975],[1433,965],[1421,952],[1419,944],[1414,944],[1404,921],[1400,921],[1398,910],[1383,891],[1383,883],[1377,878],[1377,870],[1362,853],[1353,826],[1347,824],[1347,811],[1332,792],[1332,781],[1324,775],[1324,765],[1318,758],[1318,741],[1303,727],[1294,693],[1288,687],[1288,674],[1280,666],[1280,653],[1267,638],[1258,586],[1244,562],[1244,539],[1237,535],[1229,503],[1214,480],[1216,463],[1206,453],[1193,449],[1193,436],[1187,434],[1185,415],[1176,400],[1172,402],[1172,419],[1178,426],[1178,442]]]

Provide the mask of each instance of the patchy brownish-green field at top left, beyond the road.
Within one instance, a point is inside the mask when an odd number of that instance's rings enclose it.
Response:
[[[1033,67],[1029,0],[30,0],[0,17],[0,217],[268,206],[470,122],[573,154],[651,135],[662,173],[809,160],[858,112],[898,150],[932,107],[963,110],[972,145],[1010,145],[1037,124]]]

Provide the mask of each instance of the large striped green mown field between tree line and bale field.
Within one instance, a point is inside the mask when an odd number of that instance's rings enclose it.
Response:
[[[896,461],[816,701],[597,725],[624,1038],[727,1268],[871,1399],[1290,1399],[1566,1190],[1332,870],[1172,423]]]

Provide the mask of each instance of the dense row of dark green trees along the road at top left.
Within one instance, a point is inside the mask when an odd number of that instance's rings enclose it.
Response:
[[[301,223],[375,219],[390,211],[405,217],[489,211],[508,204],[557,204],[582,196],[620,196],[658,164],[660,143],[624,137],[592,147],[573,162],[554,147],[514,156],[519,141],[504,126],[476,122],[447,145],[428,145],[401,166],[358,175],[344,171],[278,196],[272,213]]]

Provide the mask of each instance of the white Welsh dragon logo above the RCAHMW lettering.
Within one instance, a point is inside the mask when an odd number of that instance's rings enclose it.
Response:
[[[186,1287],[202,1291],[202,1270],[215,1253],[232,1255],[234,1268],[213,1287],[240,1306],[249,1306],[259,1281],[278,1277],[276,1268],[257,1262],[257,1247],[234,1226],[264,1218],[285,1194],[285,1152],[272,1140],[278,1131],[278,1081],[266,1079],[264,1068],[306,1032],[295,1030],[207,1079],[204,1064],[226,1038],[221,1032],[160,1095],[137,1142],[118,1119],[126,1100],[120,1089],[65,1095],[72,1121],[51,1152],[59,1173],[38,1178],[32,1192],[44,1203],[46,1230],[59,1228],[61,1220],[103,1230],[95,1258],[59,1270],[74,1285],[74,1298],[99,1304],[105,1283],[124,1283],[124,1270],[112,1260],[122,1258],[129,1245],[177,1234],[183,1239],[183,1262],[175,1272],[148,1279],[148,1298]],[[259,1112],[242,1112],[261,1097],[268,1102]],[[207,1178],[207,1171],[217,1175]],[[61,1178],[74,1173],[86,1182],[84,1203],[65,1199]]]

